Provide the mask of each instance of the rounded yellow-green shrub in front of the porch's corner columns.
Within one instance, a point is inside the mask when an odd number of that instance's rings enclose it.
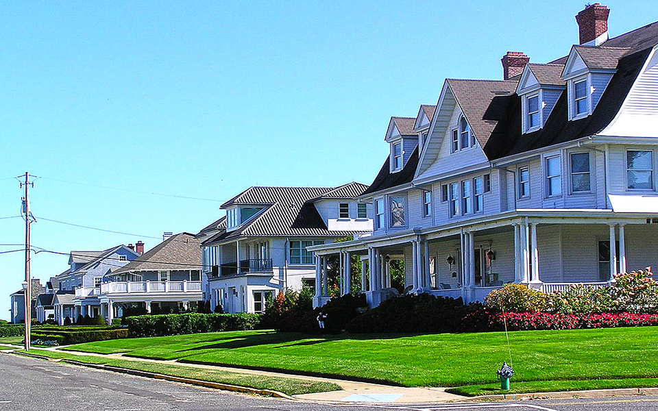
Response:
[[[539,312],[548,307],[546,294],[523,284],[505,284],[489,292],[485,305],[491,310],[507,312]]]

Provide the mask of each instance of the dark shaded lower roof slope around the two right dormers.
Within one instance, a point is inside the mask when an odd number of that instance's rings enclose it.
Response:
[[[507,97],[499,105],[507,108],[499,117],[485,154],[489,160],[524,153],[550,145],[592,136],[604,129],[621,108],[633,82],[642,70],[650,49],[627,55],[619,60],[617,71],[610,79],[592,115],[576,121],[568,121],[567,92],[563,91],[543,128],[521,134],[521,99],[517,95]]]

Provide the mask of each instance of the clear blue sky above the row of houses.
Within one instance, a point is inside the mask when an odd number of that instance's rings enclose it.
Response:
[[[34,245],[149,249],[164,231],[197,232],[248,186],[369,183],[390,116],[436,103],[446,77],[499,79],[508,50],[565,55],[584,3],[464,4],[3,2],[0,217],[19,214],[11,177],[29,171],[42,177],[37,218],[139,234],[40,220]],[[612,36],[658,19],[646,1],[605,4]],[[21,219],[0,219],[0,244],[24,235]],[[32,261],[44,281],[67,267]],[[0,307],[23,275],[22,253],[0,254]]]

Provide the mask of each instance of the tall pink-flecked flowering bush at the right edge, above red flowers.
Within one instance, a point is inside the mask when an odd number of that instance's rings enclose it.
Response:
[[[653,279],[651,267],[615,275],[611,297],[620,309],[629,312],[657,312],[658,282]]]

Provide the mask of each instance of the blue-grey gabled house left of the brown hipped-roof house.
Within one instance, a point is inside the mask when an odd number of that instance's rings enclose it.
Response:
[[[61,316],[62,312],[66,311],[65,306],[69,305],[68,297],[56,298],[53,304],[60,324],[64,323],[66,316],[71,316],[71,320],[75,321],[80,315],[95,317],[101,313],[101,299],[97,290],[103,282],[103,277],[140,256],[144,251],[144,244],[138,242],[136,246],[136,249],[132,249],[132,245],[122,244],[104,251],[71,251],[70,268],[57,275],[56,279],[58,292],[75,293],[75,310],[69,315]],[[60,300],[66,301],[63,306],[58,307]]]

